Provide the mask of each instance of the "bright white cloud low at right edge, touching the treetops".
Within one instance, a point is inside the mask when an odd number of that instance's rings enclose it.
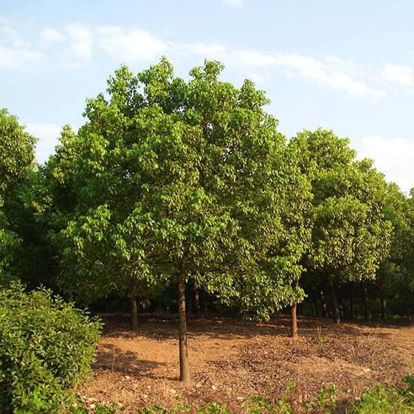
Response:
[[[363,137],[358,159],[375,161],[375,168],[408,193],[414,187],[414,141],[406,138]]]

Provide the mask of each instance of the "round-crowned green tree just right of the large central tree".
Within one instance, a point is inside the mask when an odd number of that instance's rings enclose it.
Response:
[[[348,139],[321,129],[304,131],[290,142],[300,154],[314,196],[307,264],[326,277],[336,323],[340,313],[335,284],[373,279],[391,233],[384,216],[384,177],[371,160],[353,161],[356,152],[348,144]]]

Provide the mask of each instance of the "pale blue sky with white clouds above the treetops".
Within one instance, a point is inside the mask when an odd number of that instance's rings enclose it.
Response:
[[[413,16],[411,0],[0,0],[0,108],[39,138],[43,163],[121,64],[166,56],[188,79],[215,59],[224,81],[266,91],[287,139],[333,130],[408,193]]]

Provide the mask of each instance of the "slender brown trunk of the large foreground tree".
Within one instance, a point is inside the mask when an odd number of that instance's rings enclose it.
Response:
[[[179,337],[179,380],[190,382],[188,365],[187,320],[186,320],[186,277],[182,264],[178,271],[178,337]]]

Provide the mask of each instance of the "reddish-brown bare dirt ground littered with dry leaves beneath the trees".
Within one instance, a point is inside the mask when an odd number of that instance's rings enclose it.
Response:
[[[255,324],[233,318],[188,322],[193,382],[177,377],[178,334],[173,319],[148,317],[137,333],[128,331],[127,316],[106,322],[97,362],[88,386],[87,404],[121,403],[126,413],[144,406],[202,406],[225,403],[243,413],[249,397],[268,400],[286,394],[299,409],[320,388],[336,384],[339,408],[377,382],[401,384],[414,371],[414,326],[348,324],[299,318],[299,339],[288,337],[288,318]],[[342,408],[341,408],[342,407]]]

